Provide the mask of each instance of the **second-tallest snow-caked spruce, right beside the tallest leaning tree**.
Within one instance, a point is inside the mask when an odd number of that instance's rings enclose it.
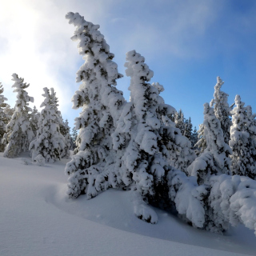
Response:
[[[154,198],[155,187],[161,186],[168,166],[158,148],[161,119],[157,109],[162,103],[158,94],[163,87],[148,83],[153,71],[141,54],[132,50],[126,54],[126,61],[130,102],[124,106],[112,135],[114,149],[121,153],[118,155],[122,182],[134,191],[134,213],[146,222],[156,223],[157,215],[147,203]]]

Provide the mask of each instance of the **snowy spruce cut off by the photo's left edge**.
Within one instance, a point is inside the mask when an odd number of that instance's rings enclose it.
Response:
[[[0,82],[0,152],[3,152],[6,146],[6,143],[2,142],[2,138],[3,138],[3,135],[6,133],[6,124],[9,121],[8,120],[9,117],[5,112],[6,107],[8,106],[8,104],[5,103],[7,98],[5,98],[4,95],[2,95],[2,93],[3,93],[3,87]]]

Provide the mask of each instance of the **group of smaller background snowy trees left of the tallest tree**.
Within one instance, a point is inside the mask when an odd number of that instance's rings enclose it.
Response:
[[[6,158],[17,157],[22,152],[30,151],[32,160],[41,155],[41,162],[55,162],[69,158],[73,149],[77,131],[70,136],[70,126],[64,122],[58,110],[58,98],[53,88],[44,88],[42,111],[33,110],[29,103],[34,102],[26,88],[30,86],[13,74],[14,92],[17,100],[14,108],[6,103],[3,87],[0,84],[0,151]]]

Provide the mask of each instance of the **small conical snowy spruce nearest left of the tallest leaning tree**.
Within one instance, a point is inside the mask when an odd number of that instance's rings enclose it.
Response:
[[[37,136],[30,143],[32,152],[32,161],[42,154],[46,162],[55,162],[60,160],[62,150],[64,149],[65,138],[60,133],[59,124],[61,122],[56,111],[56,102],[54,101],[54,90],[43,88],[45,100],[40,107],[44,107],[38,120]]]

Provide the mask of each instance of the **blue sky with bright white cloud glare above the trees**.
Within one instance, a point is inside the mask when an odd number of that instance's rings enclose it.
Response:
[[[78,110],[70,98],[78,89],[75,74],[82,65],[69,11],[101,26],[118,70],[125,74],[126,52],[136,50],[160,82],[162,98],[194,126],[203,120],[203,104],[214,94],[216,77],[234,102],[240,94],[256,112],[256,2],[254,0],[0,0],[0,82],[14,106],[11,74],[30,83],[39,108],[42,88],[54,87],[60,110],[73,126]],[[129,78],[118,89],[129,98]]]

